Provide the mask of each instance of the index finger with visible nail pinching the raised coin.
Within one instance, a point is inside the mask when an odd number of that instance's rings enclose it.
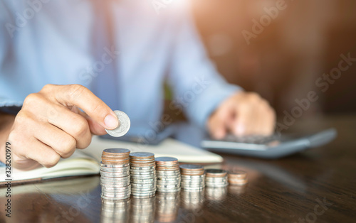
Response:
[[[53,90],[53,88],[51,89]],[[55,89],[56,101],[64,106],[80,107],[105,129],[115,129],[119,125],[119,121],[112,109],[86,87],[82,85],[58,85]]]

